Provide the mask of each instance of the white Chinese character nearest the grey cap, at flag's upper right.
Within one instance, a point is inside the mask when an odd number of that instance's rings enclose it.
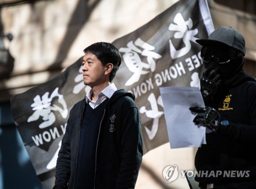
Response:
[[[181,13],[176,14],[174,17],[174,23],[169,25],[170,31],[177,31],[174,34],[174,38],[181,39],[183,38],[183,43],[185,44],[185,47],[181,48],[180,50],[176,50],[173,46],[172,40],[169,39],[169,45],[170,45],[170,56],[173,59],[179,58],[181,56],[184,56],[187,54],[191,49],[190,41],[193,41],[196,43],[195,35],[198,34],[198,29],[191,30],[193,27],[193,21],[191,18],[188,18],[187,21],[184,20]]]

